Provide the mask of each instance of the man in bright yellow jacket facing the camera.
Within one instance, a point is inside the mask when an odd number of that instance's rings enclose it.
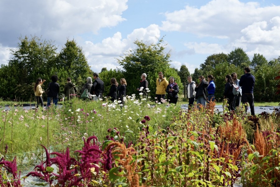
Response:
[[[163,73],[159,72],[158,73],[158,78],[156,79],[156,103],[161,102],[164,103],[163,101],[165,99],[165,90],[167,88],[168,81],[166,80],[165,77],[163,77]]]

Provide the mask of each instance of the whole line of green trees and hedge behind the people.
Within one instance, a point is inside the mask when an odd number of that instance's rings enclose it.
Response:
[[[236,72],[240,78],[243,68],[250,66],[252,74],[256,77],[255,100],[279,101],[279,95],[275,94],[279,81],[274,78],[280,69],[280,57],[268,61],[263,55],[255,54],[250,61],[243,49],[236,48],[229,54],[208,56],[200,65],[200,69],[196,68],[194,73],[190,74],[185,65],[182,65],[180,70],[171,67],[170,51],[166,52],[163,38],[158,39],[157,43],[136,40],[134,44],[137,46],[136,49],[126,51],[124,56],[117,59],[121,69],[102,68],[99,72],[99,77],[105,84],[104,96],[109,92],[112,77],[118,82],[121,78],[127,80],[128,95],[138,93],[136,88],[140,84],[140,76],[146,73],[151,90],[149,96],[153,99],[156,93],[156,78],[158,72],[162,71],[166,79],[170,76],[175,78],[180,93],[183,90],[183,83],[187,82],[187,76],[191,75],[193,80],[197,80],[199,75],[207,77],[208,74],[212,74],[217,85],[216,99],[220,101],[223,98],[226,74]],[[1,65],[0,68],[0,98],[34,101],[33,87],[36,79],[39,77],[46,79],[47,84],[42,86],[46,89],[51,82],[50,77],[54,74],[58,75],[61,94],[67,77],[71,77],[79,91],[86,82],[86,77],[92,77],[93,74],[82,47],[73,39],[67,40],[59,52],[57,50],[58,47],[53,41],[46,41],[37,36],[20,37],[16,49],[11,49],[12,58],[8,60],[8,65]],[[44,94],[43,96],[46,97]]]

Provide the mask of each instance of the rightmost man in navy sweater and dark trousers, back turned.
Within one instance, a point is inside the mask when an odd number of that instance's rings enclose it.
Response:
[[[249,67],[244,68],[244,75],[241,76],[239,85],[242,88],[242,103],[249,103],[251,114],[255,115],[254,109],[254,85],[255,77],[250,73],[251,69]],[[245,106],[245,111],[247,112],[247,106]]]

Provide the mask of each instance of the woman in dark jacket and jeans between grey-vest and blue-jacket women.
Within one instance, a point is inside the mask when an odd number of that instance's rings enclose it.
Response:
[[[196,98],[197,107],[199,108],[198,104],[201,104],[203,106],[206,105],[208,82],[205,80],[205,77],[203,75],[200,75],[198,79],[200,83],[195,84],[196,87],[194,91],[196,91],[195,98]]]

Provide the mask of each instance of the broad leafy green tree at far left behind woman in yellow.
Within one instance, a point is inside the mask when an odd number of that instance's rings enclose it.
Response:
[[[9,60],[8,66],[1,67],[5,69],[5,74],[12,75],[7,85],[3,85],[8,89],[6,95],[1,96],[14,98],[16,95],[22,100],[30,100],[30,95],[34,95],[32,83],[39,77],[50,79],[49,72],[55,67],[57,47],[52,41],[42,40],[37,36],[30,39],[27,36],[20,37],[19,40],[18,47],[11,49],[13,57]]]

